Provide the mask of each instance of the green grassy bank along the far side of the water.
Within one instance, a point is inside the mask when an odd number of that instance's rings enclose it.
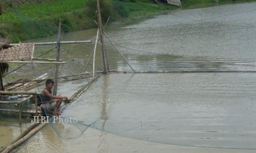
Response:
[[[179,8],[155,4],[151,0],[100,1],[103,22],[109,16],[111,16],[111,21],[129,22],[163,10]],[[248,1],[220,0],[218,4]],[[217,3],[214,0],[184,0],[182,4],[183,8],[199,8],[213,6]],[[9,2],[3,5],[3,14],[0,16],[0,37],[9,38],[13,42],[56,34],[60,18],[62,29],[65,32],[97,27],[94,22],[96,3],[91,0],[27,0],[23,4],[15,5]]]

